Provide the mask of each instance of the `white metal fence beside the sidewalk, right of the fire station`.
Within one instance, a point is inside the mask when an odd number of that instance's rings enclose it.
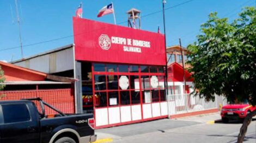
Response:
[[[216,100],[206,102],[204,98],[200,99],[199,96],[190,94],[168,95],[168,100],[170,115],[218,108]]]

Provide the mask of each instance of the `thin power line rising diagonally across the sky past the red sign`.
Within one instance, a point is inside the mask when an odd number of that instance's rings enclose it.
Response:
[[[170,6],[169,8],[166,8],[165,10],[169,10],[169,9],[173,9],[173,8],[176,8],[180,5],[183,5],[183,4],[186,4],[186,3],[190,3],[192,1],[196,1],[196,0],[190,0],[190,1],[186,1],[186,2],[183,2],[183,3],[180,3],[180,4],[176,4],[174,6]],[[154,14],[157,14],[159,12],[162,12],[162,10],[159,10],[159,11],[155,11],[155,12],[152,12],[150,14],[147,14],[147,15],[144,15],[142,16],[143,17],[147,17],[147,16],[150,16],[150,15],[154,15]],[[127,21],[124,21],[124,22],[119,22],[118,24],[123,24],[123,23],[126,23]],[[96,29],[96,30],[99,30],[99,29]],[[84,34],[84,33],[83,33]],[[77,35],[81,35],[81,34],[77,34]],[[55,39],[52,39],[52,40],[47,40],[47,41],[41,41],[41,42],[37,42],[37,43],[32,43],[32,44],[26,44],[26,45],[23,45],[22,47],[29,47],[29,46],[34,46],[34,45],[37,45],[37,44],[42,44],[42,43],[48,43],[48,42],[52,42],[52,41],[57,41],[57,40],[61,40],[61,39],[64,39],[64,38],[69,38],[69,37],[73,37],[73,36],[77,36],[77,35],[69,35],[69,36],[64,36],[64,37],[60,37],[60,38],[55,38]],[[0,51],[4,51],[4,50],[11,50],[11,49],[16,49],[16,48],[20,48],[20,46],[18,47],[11,47],[11,48],[5,48],[5,49],[0,49]]]

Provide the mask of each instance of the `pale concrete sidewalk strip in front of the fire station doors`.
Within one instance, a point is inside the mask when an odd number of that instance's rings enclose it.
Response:
[[[220,113],[188,116],[178,119],[161,119],[154,121],[141,122],[137,124],[96,129],[97,143],[112,142],[124,137],[131,137],[137,134],[147,134],[150,132],[165,132],[169,129],[193,126],[198,124],[214,124],[221,119]]]

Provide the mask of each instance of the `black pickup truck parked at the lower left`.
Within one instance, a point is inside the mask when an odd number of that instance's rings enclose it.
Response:
[[[40,109],[35,106],[39,103]],[[57,112],[45,115],[45,107]],[[92,114],[64,114],[40,98],[0,101],[0,143],[84,143],[96,140]]]

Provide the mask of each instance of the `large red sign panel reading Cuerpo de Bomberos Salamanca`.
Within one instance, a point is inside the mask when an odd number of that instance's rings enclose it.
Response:
[[[164,66],[164,35],[73,17],[78,61]]]

